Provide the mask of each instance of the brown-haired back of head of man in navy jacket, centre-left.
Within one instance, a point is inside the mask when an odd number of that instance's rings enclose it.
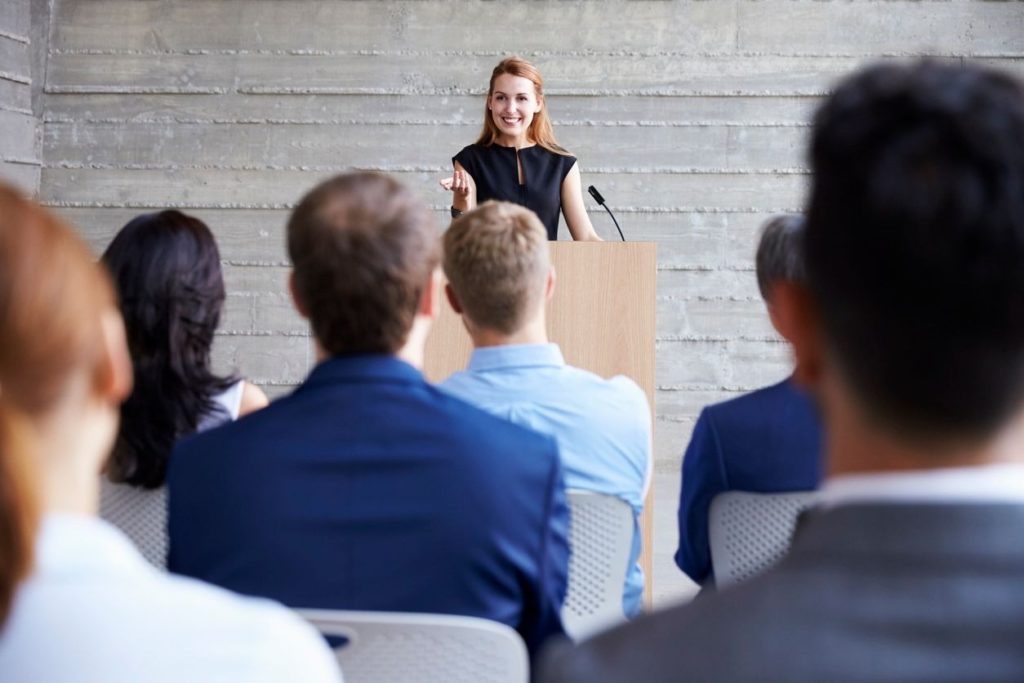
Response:
[[[288,222],[295,294],[331,355],[399,350],[439,251],[427,206],[380,173],[321,183]]]

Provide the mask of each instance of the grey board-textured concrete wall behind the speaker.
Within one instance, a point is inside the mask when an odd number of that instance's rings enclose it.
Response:
[[[478,133],[490,69],[507,53],[535,60],[584,184],[602,190],[631,239],[658,243],[658,601],[686,591],[671,564],[673,515],[697,412],[790,371],[753,251],[768,216],[801,207],[809,113],[840,75],[880,57],[932,53],[1024,73],[1020,2],[38,0],[33,9],[49,3],[42,198],[97,249],[139,211],[174,206],[207,220],[229,290],[218,362],[271,395],[310,365],[306,327],[285,294],[289,208],[326,176],[375,168],[416,186],[443,219],[450,199],[436,180]],[[26,131],[4,136],[0,154],[31,186],[28,7],[0,3],[0,131]],[[592,218],[614,236],[597,207]]]

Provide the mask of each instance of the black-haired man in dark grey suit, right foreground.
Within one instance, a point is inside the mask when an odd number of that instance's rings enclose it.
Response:
[[[548,681],[1024,679],[1024,86],[870,68],[817,113],[808,287],[783,287],[827,479],[774,569]]]

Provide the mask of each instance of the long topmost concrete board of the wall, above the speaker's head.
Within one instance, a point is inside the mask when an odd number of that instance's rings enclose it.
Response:
[[[698,53],[731,49],[735,40],[732,2],[92,0],[58,7],[55,20],[65,28],[53,47],[61,50],[529,53],[570,47],[567,27],[580,49],[671,46]]]

